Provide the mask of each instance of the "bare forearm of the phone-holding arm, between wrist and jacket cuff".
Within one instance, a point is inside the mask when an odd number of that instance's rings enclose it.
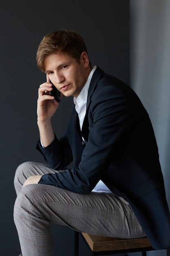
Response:
[[[47,147],[53,142],[55,138],[51,119],[47,119],[45,121],[41,121],[38,119],[37,124],[40,132],[41,142],[44,147]]]

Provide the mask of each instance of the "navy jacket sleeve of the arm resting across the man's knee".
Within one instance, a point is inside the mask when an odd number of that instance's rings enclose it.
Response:
[[[132,129],[130,107],[124,93],[112,85],[97,90],[88,109],[88,121],[88,141],[79,166],[43,175],[40,184],[59,186],[75,193],[91,192]]]

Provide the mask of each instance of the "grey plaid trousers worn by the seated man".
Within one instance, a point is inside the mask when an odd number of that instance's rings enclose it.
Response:
[[[23,256],[53,255],[51,222],[99,236],[145,236],[128,202],[113,193],[82,195],[44,184],[22,188],[32,175],[55,172],[48,165],[35,162],[25,162],[16,170],[14,222]]]

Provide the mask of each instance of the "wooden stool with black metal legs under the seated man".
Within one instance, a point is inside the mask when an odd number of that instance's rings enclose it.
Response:
[[[104,236],[94,236],[75,231],[75,256],[79,256],[79,234],[83,237],[92,256],[141,252],[146,256],[147,251],[155,250],[147,237],[137,239],[120,239]],[[166,249],[170,256],[170,248]]]

